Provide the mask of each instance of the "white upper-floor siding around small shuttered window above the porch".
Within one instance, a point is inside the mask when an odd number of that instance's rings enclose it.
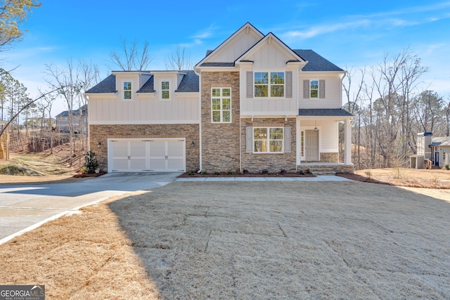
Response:
[[[304,98],[304,80],[325,80],[325,98]],[[300,89],[298,98],[299,108],[340,108],[342,107],[342,85],[338,76],[324,76],[323,74],[303,72],[298,77]],[[308,92],[307,92],[308,93]]]

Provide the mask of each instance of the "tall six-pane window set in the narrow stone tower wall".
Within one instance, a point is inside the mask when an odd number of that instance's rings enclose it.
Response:
[[[211,91],[211,110],[213,123],[231,122],[231,89],[213,88]]]

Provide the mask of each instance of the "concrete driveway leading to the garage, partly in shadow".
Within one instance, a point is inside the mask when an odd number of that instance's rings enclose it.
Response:
[[[108,197],[166,185],[181,173],[113,173],[76,183],[0,185],[0,244]]]

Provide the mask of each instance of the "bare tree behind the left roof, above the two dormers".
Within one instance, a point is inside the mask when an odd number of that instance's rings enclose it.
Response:
[[[111,61],[120,67],[123,71],[146,70],[153,58],[148,53],[148,41],[143,45],[142,51],[139,52],[138,41],[134,40],[128,44],[127,39],[120,38],[121,52],[111,51]]]

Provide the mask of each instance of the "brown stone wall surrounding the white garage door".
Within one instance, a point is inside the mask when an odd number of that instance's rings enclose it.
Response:
[[[198,124],[89,125],[89,143],[96,152],[99,168],[108,171],[108,138],[186,138],[186,171],[198,170],[198,127]]]

